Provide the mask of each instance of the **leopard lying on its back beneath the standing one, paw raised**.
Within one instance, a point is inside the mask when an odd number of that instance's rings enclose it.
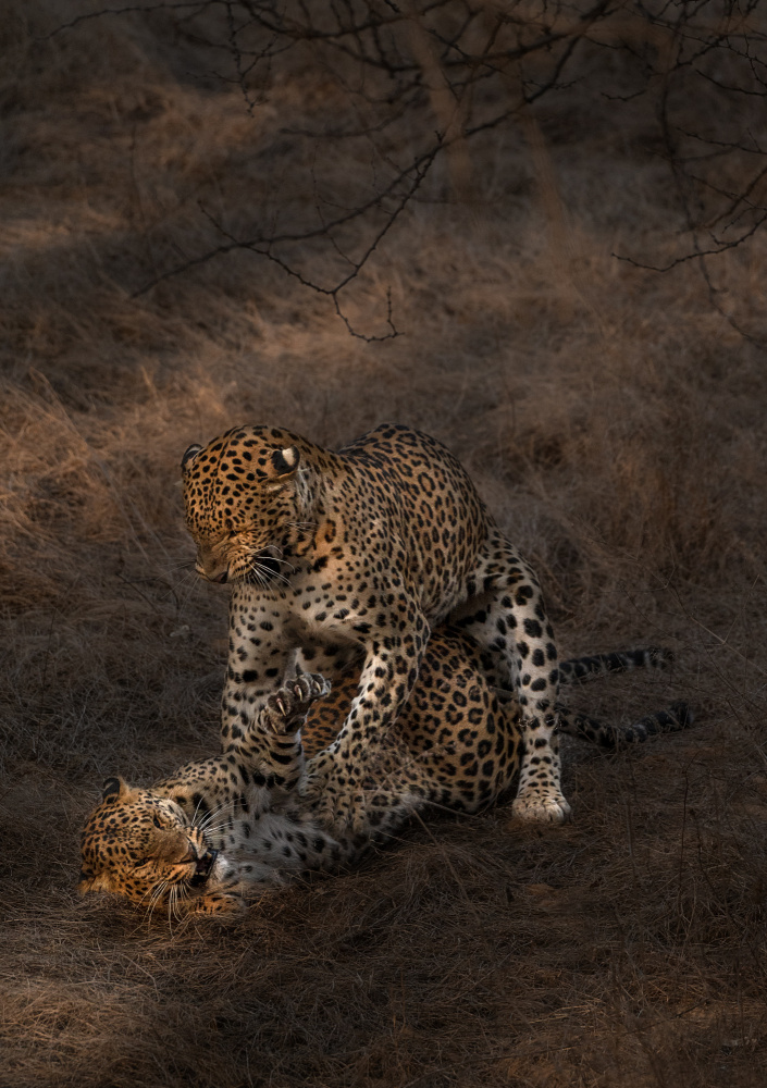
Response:
[[[629,668],[663,668],[665,651],[636,650],[560,665],[564,683]],[[405,715],[385,739],[366,784],[362,832],[324,827],[310,800],[312,763],[336,735],[357,677],[333,694],[302,673],[270,696],[259,719],[223,755],[189,763],[148,789],[104,783],[82,840],[78,889],[123,895],[149,910],[218,914],[240,910],[265,888],[307,870],[338,870],[399,830],[415,812],[473,813],[508,789],[523,741],[516,704],[491,687],[480,652],[458,631],[429,641]],[[628,728],[601,725],[565,706],[559,729],[607,749],[682,729],[675,703]],[[337,769],[343,789],[343,767]],[[333,778],[326,789],[333,789]],[[321,800],[321,799],[320,799]]]

